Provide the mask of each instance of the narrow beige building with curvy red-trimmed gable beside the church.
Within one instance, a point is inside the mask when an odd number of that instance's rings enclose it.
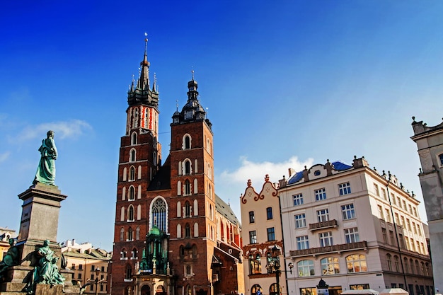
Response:
[[[241,224],[243,228],[243,258],[246,295],[277,295],[275,273],[267,273],[266,265],[272,255],[272,248],[280,250],[280,294],[288,294],[283,265],[283,241],[280,206],[277,188],[266,175],[265,183],[256,192],[251,180],[241,196]]]

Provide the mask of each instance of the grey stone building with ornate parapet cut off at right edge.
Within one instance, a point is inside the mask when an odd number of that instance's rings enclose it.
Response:
[[[437,292],[443,291],[443,122],[428,127],[413,117],[414,135],[420,157],[420,185],[429,224],[430,248]]]

